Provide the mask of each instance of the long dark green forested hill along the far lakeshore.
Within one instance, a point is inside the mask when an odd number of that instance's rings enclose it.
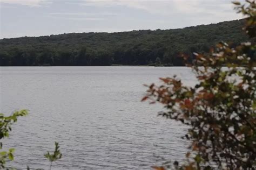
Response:
[[[1,66],[181,66],[179,52],[208,52],[219,41],[247,40],[244,20],[184,29],[67,33],[0,40]]]

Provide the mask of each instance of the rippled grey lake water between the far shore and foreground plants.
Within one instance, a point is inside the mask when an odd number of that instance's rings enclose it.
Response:
[[[49,168],[43,156],[60,144],[52,169],[150,169],[185,158],[186,127],[157,117],[159,104],[140,102],[159,77],[196,82],[186,67],[0,67],[0,111],[29,109],[4,148],[16,168]]]

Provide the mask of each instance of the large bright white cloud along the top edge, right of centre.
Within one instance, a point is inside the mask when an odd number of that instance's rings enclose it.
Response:
[[[232,10],[230,0],[84,0],[87,6],[127,6],[129,8],[141,9],[153,14],[172,15],[182,13],[191,15],[195,13],[215,13]]]

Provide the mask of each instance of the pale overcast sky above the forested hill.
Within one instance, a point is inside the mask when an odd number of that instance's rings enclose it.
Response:
[[[0,0],[2,38],[175,29],[240,19],[230,0]]]

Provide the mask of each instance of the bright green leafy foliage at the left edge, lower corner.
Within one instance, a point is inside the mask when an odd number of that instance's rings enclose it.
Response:
[[[28,110],[16,111],[11,116],[4,116],[0,114],[0,140],[9,137],[9,132],[11,131],[11,125],[17,122],[17,118],[20,116],[28,115]],[[0,142],[0,150],[2,150],[3,144]],[[4,168],[6,159],[14,160],[14,148],[10,148],[9,151],[0,152],[0,166]]]

